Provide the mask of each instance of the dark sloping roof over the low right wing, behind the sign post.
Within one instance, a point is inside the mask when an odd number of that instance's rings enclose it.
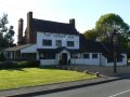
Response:
[[[90,52],[90,53],[103,53],[104,56],[113,55],[113,44],[112,43],[102,43],[86,39],[83,34],[80,34],[80,51]],[[126,53],[125,48],[120,45],[117,45],[117,53]]]

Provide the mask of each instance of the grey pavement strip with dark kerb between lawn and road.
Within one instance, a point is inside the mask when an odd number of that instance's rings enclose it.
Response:
[[[16,89],[0,91],[0,97],[31,97],[34,95],[49,94],[62,91],[68,91],[73,88],[86,87],[91,85],[103,84],[107,82],[113,82],[121,79],[130,78],[129,73],[115,74],[113,77],[102,75],[98,79],[91,80],[80,80],[74,82],[56,83],[50,85],[21,87]]]

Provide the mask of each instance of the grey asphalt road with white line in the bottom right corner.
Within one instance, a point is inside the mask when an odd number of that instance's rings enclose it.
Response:
[[[130,97],[130,79],[34,97]]]

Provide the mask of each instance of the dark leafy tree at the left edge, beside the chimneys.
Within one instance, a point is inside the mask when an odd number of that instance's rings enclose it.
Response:
[[[10,47],[13,45],[14,30],[13,26],[8,27],[8,14],[0,18],[0,47]]]

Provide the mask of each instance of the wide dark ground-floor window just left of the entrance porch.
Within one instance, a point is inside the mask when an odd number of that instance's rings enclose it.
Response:
[[[49,52],[47,53],[39,53],[39,58],[40,59],[55,59],[55,54],[50,54]]]

